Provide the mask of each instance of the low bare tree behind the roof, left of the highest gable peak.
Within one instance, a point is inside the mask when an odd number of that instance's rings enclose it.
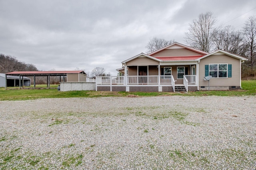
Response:
[[[162,49],[172,43],[174,43],[174,40],[166,40],[166,39],[161,39],[161,38],[152,38],[150,39],[150,41],[148,42],[148,45],[146,45],[146,49],[148,51],[146,51],[147,54],[152,53],[154,51],[157,51],[159,49]]]

